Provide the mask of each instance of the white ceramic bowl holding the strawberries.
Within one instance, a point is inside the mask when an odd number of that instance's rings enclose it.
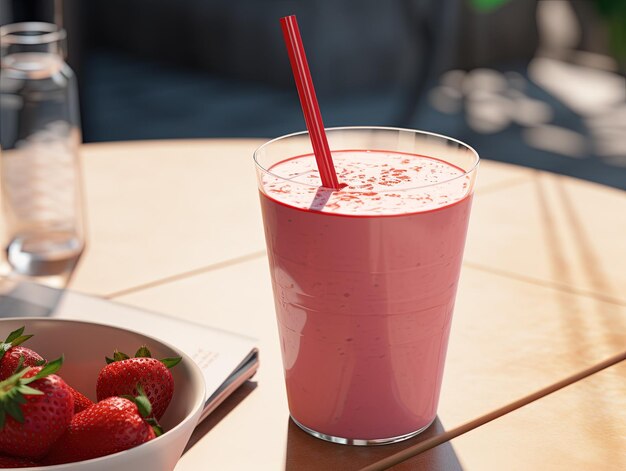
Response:
[[[22,468],[32,471],[125,471],[163,470],[176,466],[200,418],[205,399],[204,378],[198,366],[184,353],[147,335],[118,327],[65,319],[21,317],[0,319],[0,337],[26,326],[34,334],[24,346],[48,360],[64,355],[59,375],[91,400],[96,399],[96,379],[105,356],[114,349],[133,355],[147,345],[155,358],[181,356],[174,368],[174,397],[160,420],[165,433],[130,450],[64,465]]]

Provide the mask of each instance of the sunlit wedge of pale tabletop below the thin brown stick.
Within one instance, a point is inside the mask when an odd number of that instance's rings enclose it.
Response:
[[[621,362],[430,449],[415,462],[446,471],[623,471],[625,378]]]

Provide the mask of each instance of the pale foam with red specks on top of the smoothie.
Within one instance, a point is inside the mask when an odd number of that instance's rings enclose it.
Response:
[[[470,177],[458,167],[421,155],[383,151],[333,152],[341,191],[320,191],[312,154],[270,169],[263,188],[271,198],[301,209],[344,215],[395,215],[430,211],[469,192]],[[303,185],[304,184],[304,185]],[[402,193],[402,194],[400,194]]]

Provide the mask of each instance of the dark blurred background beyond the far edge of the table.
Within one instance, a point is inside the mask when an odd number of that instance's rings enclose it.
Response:
[[[68,31],[85,142],[305,128],[296,14],[325,125],[419,128],[626,189],[626,0],[0,0]]]

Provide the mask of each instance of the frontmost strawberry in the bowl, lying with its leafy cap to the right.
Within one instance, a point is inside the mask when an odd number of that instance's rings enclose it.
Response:
[[[152,440],[162,432],[142,394],[137,398],[109,397],[72,418],[44,464],[72,463],[127,450]]]

